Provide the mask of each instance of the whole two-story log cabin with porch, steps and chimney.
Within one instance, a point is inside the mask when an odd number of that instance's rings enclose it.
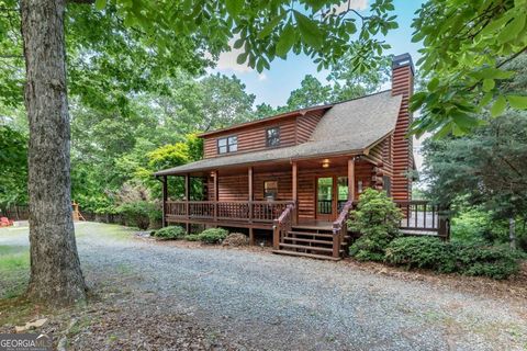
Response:
[[[403,54],[393,58],[391,90],[201,134],[202,160],[155,173],[164,183],[164,225],[246,228],[250,244],[267,230],[277,253],[336,260],[349,240],[354,201],[373,186],[403,207],[403,229],[440,234],[437,210],[412,202],[413,84],[412,58]],[[169,194],[168,177],[184,178],[182,200]]]

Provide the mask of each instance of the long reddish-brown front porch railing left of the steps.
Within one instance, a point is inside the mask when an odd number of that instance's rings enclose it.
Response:
[[[272,223],[292,201],[167,201],[167,218]]]

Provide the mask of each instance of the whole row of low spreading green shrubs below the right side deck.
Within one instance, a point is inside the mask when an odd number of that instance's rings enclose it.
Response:
[[[385,261],[437,272],[458,272],[507,279],[519,270],[520,253],[506,247],[444,242],[437,238],[406,237],[390,242]]]

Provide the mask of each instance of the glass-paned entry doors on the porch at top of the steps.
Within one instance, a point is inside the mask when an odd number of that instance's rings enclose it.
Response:
[[[347,199],[347,177],[318,177],[316,179],[316,219],[335,220]]]

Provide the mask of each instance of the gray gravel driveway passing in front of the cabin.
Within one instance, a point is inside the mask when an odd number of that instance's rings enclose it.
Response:
[[[0,245],[25,244],[26,231],[18,233],[0,233]],[[111,225],[79,224],[77,236],[94,291],[126,291],[158,315],[184,312],[233,349],[527,349],[527,301],[373,274],[345,262],[152,242]]]

